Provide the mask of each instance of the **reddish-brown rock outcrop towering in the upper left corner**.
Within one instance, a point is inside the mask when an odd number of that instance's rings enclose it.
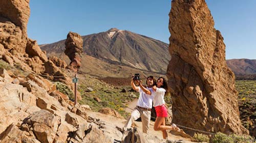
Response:
[[[4,51],[0,57],[10,65],[42,74],[47,57],[36,41],[27,36],[29,15],[29,0],[0,2],[0,47]]]

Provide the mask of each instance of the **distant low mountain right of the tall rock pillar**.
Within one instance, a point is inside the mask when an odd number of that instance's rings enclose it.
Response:
[[[253,75],[256,74],[256,60],[250,59],[231,59],[226,60],[229,68],[235,75]]]

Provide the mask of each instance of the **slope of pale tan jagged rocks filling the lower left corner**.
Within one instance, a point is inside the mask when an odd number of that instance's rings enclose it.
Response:
[[[0,142],[113,142],[102,121],[87,122],[90,107],[72,107],[50,81],[30,74],[13,84],[0,71]]]

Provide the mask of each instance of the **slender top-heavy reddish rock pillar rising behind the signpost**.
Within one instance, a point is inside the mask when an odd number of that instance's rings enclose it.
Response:
[[[69,32],[65,45],[65,54],[71,60],[68,67],[77,72],[78,68],[81,66],[82,37],[77,33]]]

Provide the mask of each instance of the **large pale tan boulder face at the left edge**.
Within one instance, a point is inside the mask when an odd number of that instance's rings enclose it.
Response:
[[[0,82],[0,133],[9,125],[22,122],[29,114],[27,107],[35,106],[36,97],[23,86]]]

